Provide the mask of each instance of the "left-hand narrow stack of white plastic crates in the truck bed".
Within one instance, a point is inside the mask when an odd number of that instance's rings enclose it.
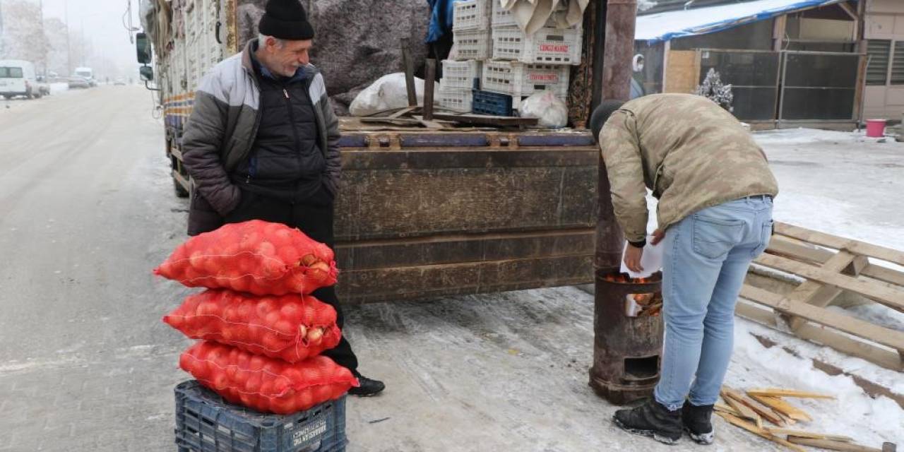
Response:
[[[480,79],[483,64],[492,56],[490,36],[492,3],[497,0],[467,0],[455,4],[452,35],[457,60],[443,61],[443,80],[439,86],[439,106],[452,111],[472,110],[474,80]]]

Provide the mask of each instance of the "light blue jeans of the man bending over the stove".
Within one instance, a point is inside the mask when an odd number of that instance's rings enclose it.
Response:
[[[681,409],[689,396],[696,406],[718,400],[734,346],[740,287],[771,235],[768,196],[694,212],[666,231],[665,344],[654,397],[669,410]]]

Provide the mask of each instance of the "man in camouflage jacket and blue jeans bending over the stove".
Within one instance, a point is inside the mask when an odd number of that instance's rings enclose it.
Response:
[[[605,126],[604,126],[605,123]],[[711,414],[731,358],[734,307],[750,261],[766,249],[778,193],[766,155],[731,114],[690,94],[606,101],[590,119],[630,246],[642,270],[646,191],[659,199],[665,345],[654,399],[618,410],[633,433],[711,444]],[[602,132],[600,132],[602,129]],[[685,400],[685,398],[687,400]]]

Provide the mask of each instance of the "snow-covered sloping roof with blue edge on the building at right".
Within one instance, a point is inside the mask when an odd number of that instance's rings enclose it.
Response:
[[[777,15],[843,1],[845,0],[757,0],[736,5],[646,14],[637,17],[635,39],[653,43],[683,36],[720,32]]]

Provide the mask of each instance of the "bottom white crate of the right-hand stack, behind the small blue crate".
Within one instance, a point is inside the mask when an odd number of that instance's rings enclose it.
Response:
[[[481,89],[508,94],[513,99],[549,89],[556,97],[566,99],[570,71],[570,66],[558,64],[485,61]]]

